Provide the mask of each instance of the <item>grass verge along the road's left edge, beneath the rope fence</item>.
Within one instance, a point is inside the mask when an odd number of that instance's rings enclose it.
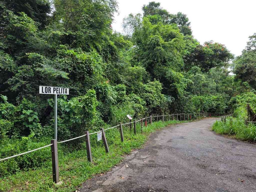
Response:
[[[13,175],[2,177],[0,191],[30,191],[30,192],[72,192],[75,191],[85,180],[95,174],[104,173],[117,165],[123,159],[123,155],[131,153],[133,149],[141,148],[150,133],[165,126],[184,123],[187,121],[154,122],[143,128],[141,133],[140,123],[137,123],[137,134],[130,132],[129,127],[123,127],[124,142],[121,142],[118,129],[106,131],[106,138],[110,152],[105,153],[103,142],[97,142],[97,134],[90,135],[93,163],[87,161],[85,143],[77,151],[69,152],[68,147],[58,145],[59,151],[59,175],[61,185],[52,182],[51,157],[42,167],[18,171]],[[50,150],[50,149],[49,149]]]

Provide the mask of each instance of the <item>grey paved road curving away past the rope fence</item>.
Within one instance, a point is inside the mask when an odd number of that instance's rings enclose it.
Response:
[[[256,145],[215,134],[210,129],[216,120],[153,133],[144,149],[88,180],[80,191],[256,192]]]

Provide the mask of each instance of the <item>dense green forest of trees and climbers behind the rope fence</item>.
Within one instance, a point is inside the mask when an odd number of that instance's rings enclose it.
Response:
[[[142,10],[121,34],[111,26],[116,0],[1,1],[1,145],[53,138],[53,96],[39,85],[69,88],[58,98],[60,140],[126,114],[250,111],[255,120],[256,34],[235,58],[221,43],[201,45],[184,13],[156,2]]]

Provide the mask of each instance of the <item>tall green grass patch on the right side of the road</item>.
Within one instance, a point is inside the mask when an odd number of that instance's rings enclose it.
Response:
[[[212,130],[219,134],[234,136],[236,139],[243,141],[256,142],[256,124],[237,121],[216,121]]]

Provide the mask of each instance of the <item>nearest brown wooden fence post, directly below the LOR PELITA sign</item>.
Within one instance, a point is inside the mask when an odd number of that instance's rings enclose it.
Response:
[[[51,155],[52,155],[52,177],[54,183],[59,183],[59,160],[57,139],[51,140]]]

